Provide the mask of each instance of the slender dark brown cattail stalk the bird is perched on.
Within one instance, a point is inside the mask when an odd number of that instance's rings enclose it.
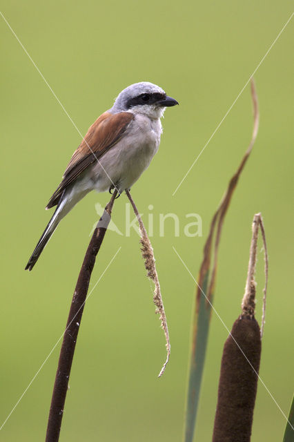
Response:
[[[70,305],[70,313],[68,315],[68,322],[66,323],[66,330],[63,334],[63,342],[61,345],[59,363],[49,412],[46,442],[57,442],[59,440],[64,403],[66,401],[66,393],[68,391],[70,369],[72,366],[72,359],[75,354],[75,345],[77,343],[77,335],[79,333],[79,326],[81,324],[81,316],[84,311],[90,277],[92,274],[92,269],[95,265],[97,253],[99,252],[102,241],[104,240],[106,229],[110,222],[112,206],[115,202],[116,196],[117,189],[115,189],[113,192],[112,198],[104,209],[104,213],[97,224],[97,227],[90,240],[90,244],[88,245],[84,262],[81,266],[81,271],[79,272],[79,278],[77,280],[75,292],[72,297],[72,303]]]

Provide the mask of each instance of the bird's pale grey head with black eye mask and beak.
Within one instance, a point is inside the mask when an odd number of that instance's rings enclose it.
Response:
[[[142,113],[150,118],[160,118],[165,108],[179,104],[175,99],[168,97],[163,89],[148,81],[135,83],[122,90],[110,109],[111,113],[129,111]]]

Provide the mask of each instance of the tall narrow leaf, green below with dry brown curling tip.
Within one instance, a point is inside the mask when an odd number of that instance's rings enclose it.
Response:
[[[215,278],[217,273],[217,253],[219,241],[221,238],[224,218],[228,211],[231,198],[237,186],[239,176],[241,175],[246,161],[252,151],[253,144],[257,137],[259,126],[259,111],[257,104],[257,94],[255,84],[251,79],[251,97],[253,101],[253,133],[251,142],[242,158],[241,163],[233,177],[228,183],[228,188],[224,193],[222,201],[213,215],[210,223],[210,231],[204,246],[204,257],[199,271],[197,282],[197,294],[195,300],[195,314],[193,318],[192,329],[192,348],[190,353],[190,372],[188,378],[188,392],[186,399],[186,421],[184,430],[184,442],[192,442],[197,418],[197,408],[199,402],[199,392],[202,383],[202,374],[206,356],[206,347],[208,343],[208,333],[210,326],[210,313],[213,303],[213,293],[215,287]],[[213,256],[212,256],[213,255]],[[210,265],[211,261],[211,265]]]

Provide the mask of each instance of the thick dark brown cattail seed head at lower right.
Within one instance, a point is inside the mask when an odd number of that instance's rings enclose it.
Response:
[[[254,316],[240,316],[224,344],[213,442],[250,441],[261,348]]]

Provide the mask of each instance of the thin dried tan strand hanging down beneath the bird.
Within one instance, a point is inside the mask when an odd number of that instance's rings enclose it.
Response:
[[[145,226],[143,224],[143,221],[141,219],[139,211],[136,207],[136,204],[130,195],[130,192],[126,191],[126,195],[128,196],[128,199],[130,200],[130,204],[132,204],[132,206],[133,206],[133,210],[134,210],[135,215],[137,216],[137,220],[139,222],[139,228],[140,228],[140,232],[141,232],[141,239],[140,239],[141,252],[142,252],[142,256],[144,258],[145,268],[147,270],[147,276],[148,276],[148,278],[150,278],[150,280],[152,280],[154,282],[154,285],[155,285],[155,290],[154,290],[154,294],[153,294],[153,302],[155,303],[155,306],[156,306],[155,313],[159,314],[159,318],[161,321],[161,328],[164,330],[164,335],[166,337],[166,353],[167,353],[166,354],[166,361],[159,372],[158,377],[160,378],[160,376],[162,374],[164,374],[164,371],[166,369],[166,365],[167,365],[168,360],[170,358],[170,338],[168,335],[168,324],[166,322],[166,313],[164,311],[164,303],[162,302],[162,298],[161,298],[161,290],[160,290],[157,270],[155,267],[155,257],[154,257],[154,253],[153,253],[153,247],[152,247],[151,242],[148,238],[147,231],[145,229]]]

